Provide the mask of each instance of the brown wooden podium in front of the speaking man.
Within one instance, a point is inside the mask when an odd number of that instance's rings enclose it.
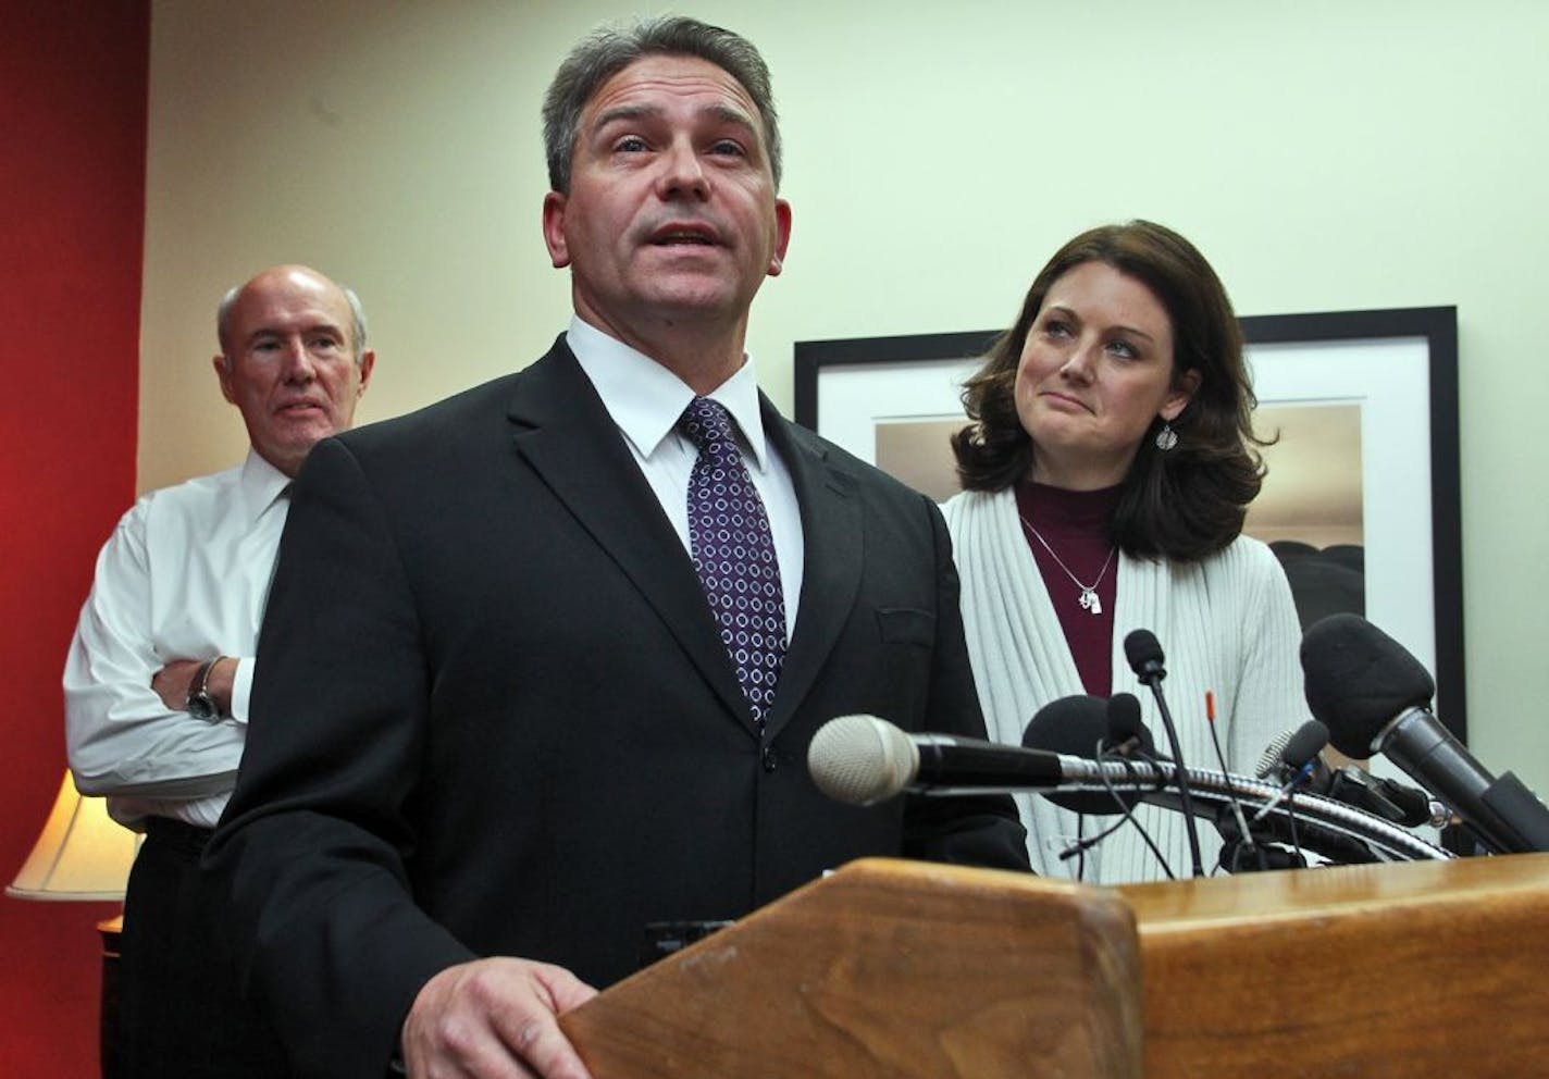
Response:
[[[1549,855],[1095,889],[867,859],[561,1023],[596,1079],[1543,1074]]]

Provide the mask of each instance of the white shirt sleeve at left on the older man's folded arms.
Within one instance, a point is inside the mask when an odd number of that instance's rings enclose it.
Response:
[[[150,678],[170,659],[152,633],[149,500],[124,514],[98,556],[65,659],[65,738],[85,794],[192,799],[231,790],[246,728],[169,711]],[[251,663],[243,664],[249,669]],[[243,701],[246,703],[246,701]]]

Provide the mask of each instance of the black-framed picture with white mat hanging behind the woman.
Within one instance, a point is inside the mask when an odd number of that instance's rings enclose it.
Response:
[[[1244,317],[1269,475],[1244,531],[1286,567],[1303,625],[1365,615],[1436,675],[1467,735],[1458,310]],[[796,421],[945,500],[962,382],[998,331],[796,342]]]

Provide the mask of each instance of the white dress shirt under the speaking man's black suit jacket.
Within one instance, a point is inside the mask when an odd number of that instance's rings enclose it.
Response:
[[[688,531],[688,481],[699,460],[699,447],[677,429],[683,410],[694,399],[694,390],[677,375],[644,353],[621,341],[572,319],[565,344],[581,362],[603,406],[624,435],[635,463],[655,492],[661,509],[692,554]],[[805,567],[802,554],[801,505],[790,469],[764,437],[759,413],[759,384],[753,361],[747,359],[737,373],[717,385],[709,398],[719,401],[739,433],[737,447],[753,477],[764,512],[774,536],[774,559],[779,562],[781,591],[785,596],[785,642],[796,627],[796,599]]]

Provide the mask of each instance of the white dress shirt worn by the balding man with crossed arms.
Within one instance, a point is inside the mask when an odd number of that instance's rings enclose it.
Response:
[[[70,768],[132,828],[214,827],[246,740],[252,655],[285,528],[290,478],[256,452],[143,495],[98,556],[65,659]],[[231,717],[170,711],[150,678],[173,659],[237,659]]]

